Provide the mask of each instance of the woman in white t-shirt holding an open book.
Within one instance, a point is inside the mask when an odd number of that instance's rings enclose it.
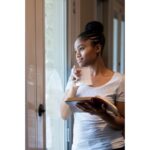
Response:
[[[85,26],[76,39],[74,49],[76,61],[80,67],[89,67],[92,86],[76,86],[80,78],[80,69],[73,67],[66,88],[65,98],[77,96],[102,96],[116,105],[120,116],[110,116],[91,103],[78,104],[84,113],[72,110],[64,100],[61,104],[61,116],[67,119],[74,114],[74,132],[72,150],[123,150],[124,138],[124,77],[108,69],[102,59],[105,37],[103,25],[92,21]]]

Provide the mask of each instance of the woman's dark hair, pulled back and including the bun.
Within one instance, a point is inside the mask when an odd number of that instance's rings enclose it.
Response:
[[[100,44],[103,50],[105,45],[103,30],[104,27],[101,22],[91,21],[85,25],[85,30],[79,34],[78,38],[81,40],[91,40],[93,46]]]

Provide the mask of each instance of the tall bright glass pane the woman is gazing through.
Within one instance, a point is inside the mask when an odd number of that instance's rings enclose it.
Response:
[[[45,0],[45,99],[46,148],[64,149],[64,121],[60,118],[60,101],[64,95],[65,0]]]

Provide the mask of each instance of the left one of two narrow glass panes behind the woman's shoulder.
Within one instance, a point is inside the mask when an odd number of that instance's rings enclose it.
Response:
[[[117,71],[118,65],[118,19],[113,20],[113,71]]]

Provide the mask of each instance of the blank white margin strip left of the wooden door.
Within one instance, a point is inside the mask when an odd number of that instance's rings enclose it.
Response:
[[[25,0],[0,3],[0,149],[25,149]]]

